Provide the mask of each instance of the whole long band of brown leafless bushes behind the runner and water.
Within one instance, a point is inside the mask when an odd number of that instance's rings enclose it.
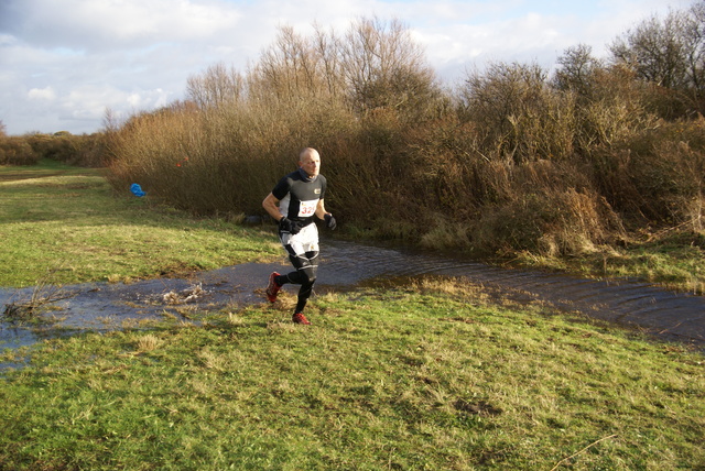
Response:
[[[577,47],[554,77],[494,64],[443,89],[397,22],[343,36],[283,29],[246,75],[109,135],[111,182],[199,213],[260,202],[321,151],[327,207],[350,233],[486,254],[581,253],[650,226],[702,230],[705,122],[672,90]],[[692,103],[691,103],[692,105]],[[668,111],[668,112],[666,112]]]

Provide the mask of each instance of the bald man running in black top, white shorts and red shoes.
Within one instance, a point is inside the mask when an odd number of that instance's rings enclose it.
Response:
[[[299,169],[279,180],[262,201],[267,212],[279,221],[279,239],[296,269],[286,275],[276,272],[270,275],[267,299],[274,303],[286,283],[301,285],[292,320],[305,325],[311,325],[304,316],[304,308],[313,293],[318,270],[318,228],[314,218],[324,220],[328,229],[336,227],[335,218],[326,211],[323,202],[326,178],[319,171],[318,151],[304,149],[299,155]]]

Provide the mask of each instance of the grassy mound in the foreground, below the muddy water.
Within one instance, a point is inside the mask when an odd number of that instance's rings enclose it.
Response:
[[[2,380],[0,468],[705,465],[683,347],[453,281],[319,296],[311,327],[293,303],[46,341]]]

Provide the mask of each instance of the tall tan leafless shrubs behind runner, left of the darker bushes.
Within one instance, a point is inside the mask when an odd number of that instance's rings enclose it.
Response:
[[[151,199],[202,213],[259,213],[299,151],[315,146],[337,182],[328,200],[340,212],[369,218],[387,210],[384,198],[409,200],[399,185],[410,172],[404,135],[444,99],[401,23],[360,20],[345,37],[282,28],[245,81],[237,77],[209,68],[188,81],[193,106],[111,130],[115,185],[140,183]]]

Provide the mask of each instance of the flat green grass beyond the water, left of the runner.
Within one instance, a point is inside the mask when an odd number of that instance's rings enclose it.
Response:
[[[32,286],[47,272],[62,284],[130,281],[280,254],[270,232],[116,197],[97,169],[0,167],[0,286]]]

